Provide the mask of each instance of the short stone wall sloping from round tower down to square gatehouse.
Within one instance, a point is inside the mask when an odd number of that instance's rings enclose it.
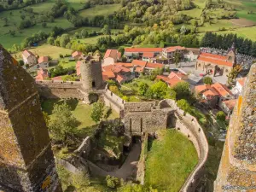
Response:
[[[119,96],[115,95],[113,92],[105,89],[103,94],[105,105],[113,108],[117,113],[121,113],[124,110],[124,103],[125,101],[121,99]]]

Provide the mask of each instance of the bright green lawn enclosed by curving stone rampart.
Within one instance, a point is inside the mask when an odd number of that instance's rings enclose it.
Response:
[[[148,152],[145,183],[159,191],[177,192],[197,162],[189,139],[175,130],[162,130]]]

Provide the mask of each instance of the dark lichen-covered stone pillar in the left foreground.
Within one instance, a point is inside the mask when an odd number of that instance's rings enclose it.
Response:
[[[0,45],[0,191],[61,192],[32,77]]]

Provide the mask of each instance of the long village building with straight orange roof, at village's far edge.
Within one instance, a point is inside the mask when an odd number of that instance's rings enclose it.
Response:
[[[143,54],[146,53],[150,53],[151,55],[153,54],[154,56],[156,56],[160,55],[161,52],[161,48],[125,48],[124,55],[127,58],[127,61],[132,61],[133,59],[143,60]]]

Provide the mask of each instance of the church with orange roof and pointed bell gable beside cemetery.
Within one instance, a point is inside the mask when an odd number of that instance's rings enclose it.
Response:
[[[226,76],[236,65],[236,54],[230,49],[227,55],[215,55],[210,53],[201,53],[198,56],[195,69],[201,70],[205,74],[215,76]]]

